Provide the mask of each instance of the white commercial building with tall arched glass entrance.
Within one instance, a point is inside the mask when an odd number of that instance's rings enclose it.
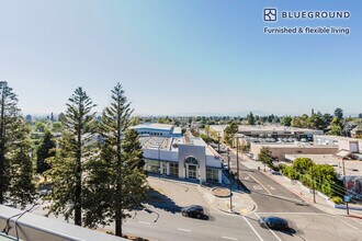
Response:
[[[140,137],[148,172],[222,183],[220,156],[196,137]]]

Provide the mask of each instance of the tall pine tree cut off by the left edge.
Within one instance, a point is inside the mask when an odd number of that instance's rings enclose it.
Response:
[[[25,206],[33,200],[29,133],[18,108],[16,94],[7,82],[0,82],[0,204]]]

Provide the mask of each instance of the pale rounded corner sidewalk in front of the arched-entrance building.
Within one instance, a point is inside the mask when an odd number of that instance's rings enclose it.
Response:
[[[223,213],[248,215],[257,208],[256,203],[249,197],[248,194],[233,191],[233,210],[230,210],[230,197],[215,196],[212,192],[213,187],[197,186],[197,188],[208,205]]]

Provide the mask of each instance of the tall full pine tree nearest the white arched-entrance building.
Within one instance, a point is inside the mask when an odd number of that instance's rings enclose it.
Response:
[[[143,171],[143,151],[138,135],[128,130],[133,112],[118,83],[112,90],[112,102],[102,115],[102,145],[98,158],[88,164],[86,225],[95,227],[115,222],[115,234],[122,237],[122,222],[145,199],[147,182]]]

